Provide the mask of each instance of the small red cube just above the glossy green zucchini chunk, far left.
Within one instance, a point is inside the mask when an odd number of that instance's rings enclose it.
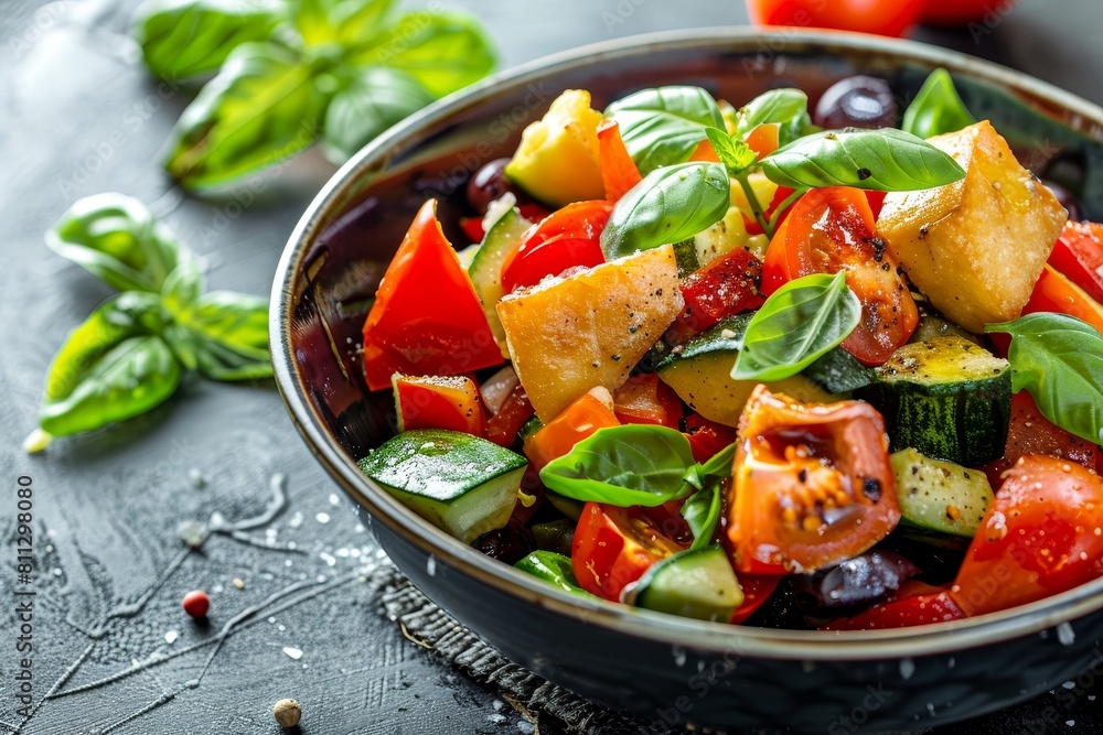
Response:
[[[398,431],[449,429],[482,436],[485,415],[471,378],[396,375],[394,387]]]

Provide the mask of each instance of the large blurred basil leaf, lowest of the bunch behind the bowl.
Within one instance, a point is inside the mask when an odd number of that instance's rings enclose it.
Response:
[[[309,147],[326,104],[310,66],[272,43],[247,43],[180,116],[165,169],[206,188]]]

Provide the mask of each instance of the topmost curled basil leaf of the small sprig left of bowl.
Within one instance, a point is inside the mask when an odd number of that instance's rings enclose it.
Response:
[[[159,292],[192,260],[144,204],[121,194],[78,199],[46,233],[46,245],[119,291]]]

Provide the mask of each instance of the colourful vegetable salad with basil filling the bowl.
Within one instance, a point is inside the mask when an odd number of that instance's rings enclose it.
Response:
[[[432,201],[410,225],[362,471],[560,590],[700,619],[921,625],[1099,576],[1103,226],[944,71],[893,100],[564,91],[472,176],[473,245]]]

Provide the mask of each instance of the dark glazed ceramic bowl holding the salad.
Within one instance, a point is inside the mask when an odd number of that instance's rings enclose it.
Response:
[[[529,64],[390,129],[346,164],[296,228],[277,273],[276,378],[307,444],[367,511],[398,566],[514,661],[598,702],[670,723],[799,732],[919,729],[1007,706],[1094,667],[1103,672],[1103,580],[1004,613],[876,633],[700,623],[581,603],[461,544],[366,479],[354,461],[393,433],[389,391],[365,388],[356,348],[386,263],[418,205],[441,199],[453,241],[462,185],[508,155],[565,88],[595,106],[634,89],[697,84],[739,104],[796,86],[815,100],[874,74],[909,99],[936,66],[1020,160],[1099,207],[1103,109],[960,54],[849,34],[749,29],[647,36]],[[1095,218],[1103,213],[1088,207]],[[1094,677],[1094,673],[1091,674]]]

